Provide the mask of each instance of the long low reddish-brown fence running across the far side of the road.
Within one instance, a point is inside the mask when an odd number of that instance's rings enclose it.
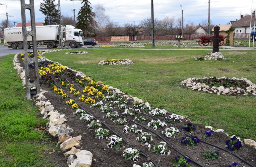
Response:
[[[156,35],[155,40],[175,40],[175,37],[178,35]],[[184,35],[185,40],[196,40],[199,39],[202,36],[207,36],[207,34],[192,34]],[[249,38],[250,33],[236,33],[235,34],[235,39],[245,39]],[[85,38],[94,38],[98,43],[110,43],[111,42],[111,37],[85,37]],[[129,41],[135,41],[135,37],[129,37]],[[150,35],[140,35],[136,36],[136,41],[151,41],[151,36]]]

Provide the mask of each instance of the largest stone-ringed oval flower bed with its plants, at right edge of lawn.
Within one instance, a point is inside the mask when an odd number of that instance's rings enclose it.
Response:
[[[216,93],[218,95],[256,95],[256,85],[246,78],[189,78],[181,82],[182,86],[187,86],[192,90]]]

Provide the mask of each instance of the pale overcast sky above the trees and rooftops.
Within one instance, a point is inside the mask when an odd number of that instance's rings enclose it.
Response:
[[[253,10],[256,0],[253,0]],[[44,22],[44,15],[39,11],[42,0],[34,0],[36,22]],[[75,9],[81,8],[81,0],[75,0]],[[145,17],[151,17],[151,0],[91,0],[92,7],[101,4],[111,22],[124,24],[125,22],[139,23]],[[8,15],[14,16],[15,21],[21,22],[20,0],[0,0],[6,4]],[[28,1],[29,3],[29,1]],[[56,4],[58,1],[56,0]],[[211,0],[212,24],[226,24],[230,20],[240,18],[240,11],[249,14],[251,11],[251,0]],[[154,0],[155,17],[181,17],[181,7],[184,10],[184,25],[188,22],[194,24],[202,20],[208,20],[208,0]],[[61,0],[61,14],[73,16],[73,1]],[[76,11],[77,15],[78,11]],[[0,5],[0,21],[6,19],[6,6]],[[29,19],[29,18],[27,18]],[[13,21],[13,17],[9,17]]]

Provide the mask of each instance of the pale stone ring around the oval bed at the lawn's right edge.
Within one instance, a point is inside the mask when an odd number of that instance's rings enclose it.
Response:
[[[241,89],[240,87],[224,87],[224,86],[212,86],[210,87],[209,85],[206,85],[205,83],[200,83],[198,82],[199,80],[202,79],[211,79],[214,77],[203,77],[203,78],[189,78],[181,82],[180,85],[186,86],[188,88],[191,88],[192,90],[198,90],[198,91],[204,91],[206,93],[216,93],[218,95],[247,95],[247,94],[252,94],[256,95],[256,84],[252,83],[249,81],[247,78],[226,78],[226,77],[221,77],[218,79],[230,79],[230,80],[236,80],[236,81],[245,81],[247,84],[250,86],[246,87],[246,89]]]

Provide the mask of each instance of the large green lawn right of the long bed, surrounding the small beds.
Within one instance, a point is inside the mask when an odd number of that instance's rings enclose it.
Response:
[[[256,140],[255,96],[207,94],[179,85],[187,78],[204,76],[245,77],[256,83],[255,51],[223,51],[224,56],[231,57],[229,60],[234,62],[194,61],[193,57],[205,56],[209,52],[200,50],[87,51],[89,53],[85,55],[69,55],[65,54],[66,51],[60,51],[45,56],[82,71],[96,81],[146,100],[154,107],[172,110],[176,114],[188,116],[193,122],[210,125],[215,129],[222,128],[230,135]],[[243,54],[231,54],[232,52]],[[101,60],[112,58],[130,59],[135,64],[130,65],[130,68],[125,68],[124,65],[97,65]],[[226,68],[230,72],[219,71],[219,68]],[[158,74],[159,71],[163,71],[163,74]]]

